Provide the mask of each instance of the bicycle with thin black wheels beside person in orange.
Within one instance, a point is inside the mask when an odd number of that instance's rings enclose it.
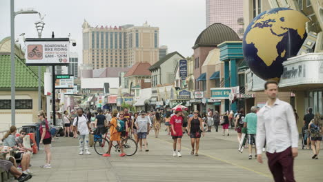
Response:
[[[108,136],[108,133],[105,134],[104,138],[97,138],[94,144],[95,152],[99,155],[105,154],[108,151],[109,142],[110,137]],[[137,152],[138,145],[135,140],[131,139],[129,136],[126,138],[121,137],[121,145],[126,156],[133,156]],[[112,143],[112,147],[115,148],[115,152],[121,151],[118,144],[113,145]]]

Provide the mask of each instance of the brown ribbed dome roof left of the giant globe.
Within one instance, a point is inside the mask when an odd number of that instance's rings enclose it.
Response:
[[[222,23],[213,23],[197,37],[193,49],[199,46],[217,46],[224,41],[241,41],[237,33]]]

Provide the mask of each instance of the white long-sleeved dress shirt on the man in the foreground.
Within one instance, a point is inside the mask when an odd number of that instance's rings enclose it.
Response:
[[[264,105],[257,112],[257,154],[266,151],[282,152],[289,147],[298,148],[298,131],[293,108],[289,103],[276,99],[272,106]]]

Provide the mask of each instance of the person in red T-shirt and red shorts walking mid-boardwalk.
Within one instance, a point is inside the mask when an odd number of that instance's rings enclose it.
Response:
[[[172,138],[174,140],[173,143],[173,156],[182,156],[181,154],[181,140],[183,136],[182,126],[183,126],[183,117],[182,117],[182,109],[177,108],[175,110],[175,115],[170,118],[170,125],[171,125],[171,133]],[[177,145],[177,154],[176,154],[176,145]]]

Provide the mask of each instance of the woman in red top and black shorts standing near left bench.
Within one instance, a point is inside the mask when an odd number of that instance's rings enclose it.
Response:
[[[52,168],[52,165],[50,165],[50,161],[52,160],[52,152],[50,151],[50,143],[52,143],[52,137],[50,135],[46,114],[45,112],[43,112],[43,110],[41,110],[38,112],[37,117],[41,122],[41,125],[39,125],[39,132],[41,134],[41,140],[39,141],[39,143],[43,144],[43,148],[46,153],[46,163],[45,165],[41,165],[41,168]]]

